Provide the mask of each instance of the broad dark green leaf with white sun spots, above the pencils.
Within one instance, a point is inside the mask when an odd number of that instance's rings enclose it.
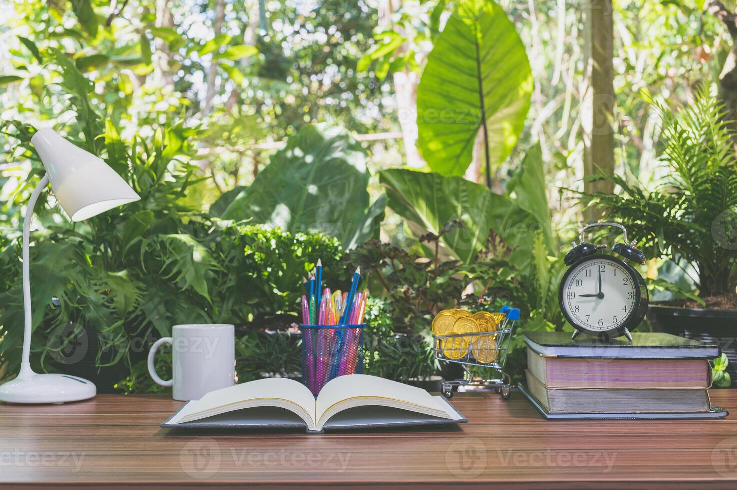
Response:
[[[346,130],[307,125],[287,140],[221,214],[352,242],[368,213],[366,152]],[[376,211],[374,209],[374,211]]]

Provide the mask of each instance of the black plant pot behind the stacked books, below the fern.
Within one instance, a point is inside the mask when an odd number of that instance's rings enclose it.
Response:
[[[737,382],[737,309],[691,309],[650,305],[647,320],[654,332],[719,345],[727,354],[732,387]]]

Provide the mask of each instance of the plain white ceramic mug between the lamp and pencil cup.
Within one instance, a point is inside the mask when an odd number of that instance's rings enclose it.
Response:
[[[159,346],[172,346],[172,379],[156,374]],[[148,374],[161,386],[173,386],[180,402],[198,400],[210,391],[234,385],[235,334],[232,325],[175,325],[172,336],[156,341],[148,353]]]

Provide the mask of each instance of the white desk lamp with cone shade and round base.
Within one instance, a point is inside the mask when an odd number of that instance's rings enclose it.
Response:
[[[13,381],[0,385],[0,402],[65,403],[92,398],[95,386],[66,374],[35,374],[29,363],[31,349],[31,289],[28,241],[38,195],[51,182],[57,202],[72,221],[83,221],[109,209],[133,203],[140,197],[105,162],[57,135],[42,129],[31,139],[46,175],[33,189],[23,223],[24,335],[21,371]]]

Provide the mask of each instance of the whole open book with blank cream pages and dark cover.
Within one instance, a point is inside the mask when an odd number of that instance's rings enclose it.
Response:
[[[274,410],[276,409],[276,410]],[[293,379],[260,379],[188,402],[161,427],[307,427],[324,430],[466,422],[441,396],[363,374],[327,383],[317,399]]]

